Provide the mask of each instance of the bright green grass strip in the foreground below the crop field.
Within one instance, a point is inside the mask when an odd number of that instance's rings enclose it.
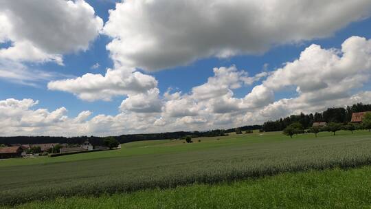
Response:
[[[16,208],[370,208],[371,166],[284,173],[101,197],[35,201]]]

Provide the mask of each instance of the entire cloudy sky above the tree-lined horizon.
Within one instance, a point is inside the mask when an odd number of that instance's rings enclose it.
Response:
[[[369,0],[0,1],[0,135],[207,131],[371,103]]]

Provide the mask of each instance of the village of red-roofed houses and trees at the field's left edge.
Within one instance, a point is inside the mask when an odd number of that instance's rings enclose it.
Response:
[[[0,159],[16,157],[57,157],[93,151],[109,151],[120,149],[121,144],[113,137],[107,137],[103,144],[91,143],[85,140],[82,144],[47,143],[47,144],[0,144]]]

